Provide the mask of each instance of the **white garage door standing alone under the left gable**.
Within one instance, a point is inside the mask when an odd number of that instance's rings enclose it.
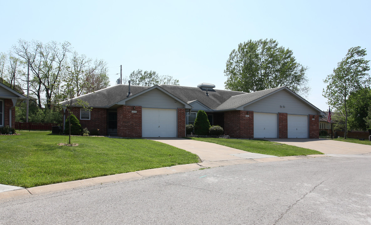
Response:
[[[142,109],[142,137],[176,137],[177,110]]]

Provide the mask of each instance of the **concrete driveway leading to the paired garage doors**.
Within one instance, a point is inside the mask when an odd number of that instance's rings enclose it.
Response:
[[[371,158],[371,145],[349,143],[345,141],[335,141],[328,139],[306,139],[306,138],[263,138],[268,141],[279,142],[282,144],[295,145],[302,148],[309,148],[320,151],[329,156],[338,157],[367,157]]]

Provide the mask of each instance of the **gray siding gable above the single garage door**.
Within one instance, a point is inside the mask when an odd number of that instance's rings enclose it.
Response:
[[[171,98],[167,94],[153,89],[147,91],[141,95],[138,95],[135,98],[132,98],[125,103],[126,105],[140,105],[144,108],[184,108],[184,105],[176,101],[174,98]]]

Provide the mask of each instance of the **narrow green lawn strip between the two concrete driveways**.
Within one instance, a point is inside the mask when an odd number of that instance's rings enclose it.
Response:
[[[206,141],[219,145],[237,148],[243,151],[275,155],[275,156],[291,156],[291,155],[313,155],[323,154],[322,152],[311,150],[308,148],[300,148],[292,145],[280,144],[266,140],[244,140],[244,139],[226,139],[226,138],[191,138],[196,141]]]

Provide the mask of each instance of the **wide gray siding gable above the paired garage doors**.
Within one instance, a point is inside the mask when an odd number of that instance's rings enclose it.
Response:
[[[280,107],[280,105],[285,105],[285,108]],[[269,95],[255,103],[245,106],[243,109],[268,113],[284,112],[298,115],[317,114],[315,110],[285,90]]]

